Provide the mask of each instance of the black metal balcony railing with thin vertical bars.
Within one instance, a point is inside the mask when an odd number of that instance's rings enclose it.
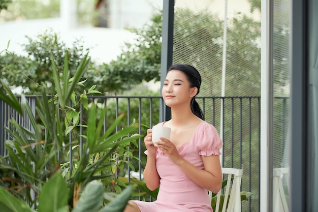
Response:
[[[143,135],[146,134],[146,129],[142,126],[151,128],[164,119],[164,117],[160,118],[159,114],[160,105],[164,105],[161,97],[91,96],[89,99],[98,102],[101,106],[106,106],[105,131],[112,120],[115,120],[121,113],[125,113],[121,124],[124,126],[131,125],[133,122],[142,124],[139,125],[138,133]],[[244,206],[243,203],[242,207],[246,207],[246,211],[258,211],[260,202],[260,97],[197,97],[196,99],[202,107],[206,122],[215,126],[224,142],[221,156],[222,166],[244,169],[241,191],[252,192],[252,196],[246,203],[248,205]],[[26,96],[26,100],[36,116],[36,96]],[[79,110],[85,115],[83,107],[80,107]],[[20,125],[32,130],[26,116],[19,116],[10,106],[0,100],[0,154],[2,156],[7,154],[4,143],[6,140],[10,140],[10,136],[4,128],[10,127],[8,120],[12,117]],[[273,138],[276,151],[283,150],[288,137],[288,123],[289,98],[275,98]],[[142,140],[139,139],[138,146],[140,159],[145,150]],[[278,157],[273,161],[281,164],[282,158]],[[138,163],[139,170],[135,174],[141,179],[143,164]],[[130,170],[128,172],[130,176]]]

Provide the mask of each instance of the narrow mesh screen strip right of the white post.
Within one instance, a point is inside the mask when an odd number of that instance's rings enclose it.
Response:
[[[275,0],[273,4],[273,78],[274,96],[276,98],[274,99],[273,108],[272,161],[273,168],[289,168],[290,2],[286,0]],[[288,185],[289,180],[283,180],[284,178],[282,178],[282,176],[280,176],[280,178],[282,180],[284,194],[289,196],[289,188],[291,188]],[[275,191],[275,185],[273,186],[273,191]],[[275,199],[273,201],[275,201]],[[276,205],[273,205],[273,207],[275,206]]]

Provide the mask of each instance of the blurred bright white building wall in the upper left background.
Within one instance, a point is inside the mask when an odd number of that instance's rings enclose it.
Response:
[[[66,3],[67,2],[67,3]],[[24,54],[21,44],[25,36],[34,38],[46,29],[60,35],[67,45],[76,39],[84,42],[90,49],[90,56],[97,63],[108,63],[121,53],[124,42],[133,42],[134,34],[123,27],[142,27],[151,17],[152,5],[162,8],[163,0],[110,0],[111,14],[114,22],[112,28],[78,27],[74,17],[74,0],[61,0],[61,17],[35,20],[20,20],[0,23],[0,52],[7,48],[16,54]],[[73,15],[72,15],[73,14]],[[116,24],[115,24],[116,23]]]

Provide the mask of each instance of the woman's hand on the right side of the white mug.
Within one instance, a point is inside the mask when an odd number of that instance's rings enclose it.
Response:
[[[179,165],[184,159],[179,155],[176,146],[167,138],[160,139],[154,146],[162,150],[174,164]]]

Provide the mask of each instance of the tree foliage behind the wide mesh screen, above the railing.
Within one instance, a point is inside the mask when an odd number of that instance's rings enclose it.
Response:
[[[199,70],[203,96],[220,96],[225,42],[223,20],[208,11],[195,13],[189,9],[178,9],[174,24],[174,63],[191,64]],[[226,48],[227,96],[260,95],[260,26],[260,22],[243,14],[237,14],[229,20]]]

